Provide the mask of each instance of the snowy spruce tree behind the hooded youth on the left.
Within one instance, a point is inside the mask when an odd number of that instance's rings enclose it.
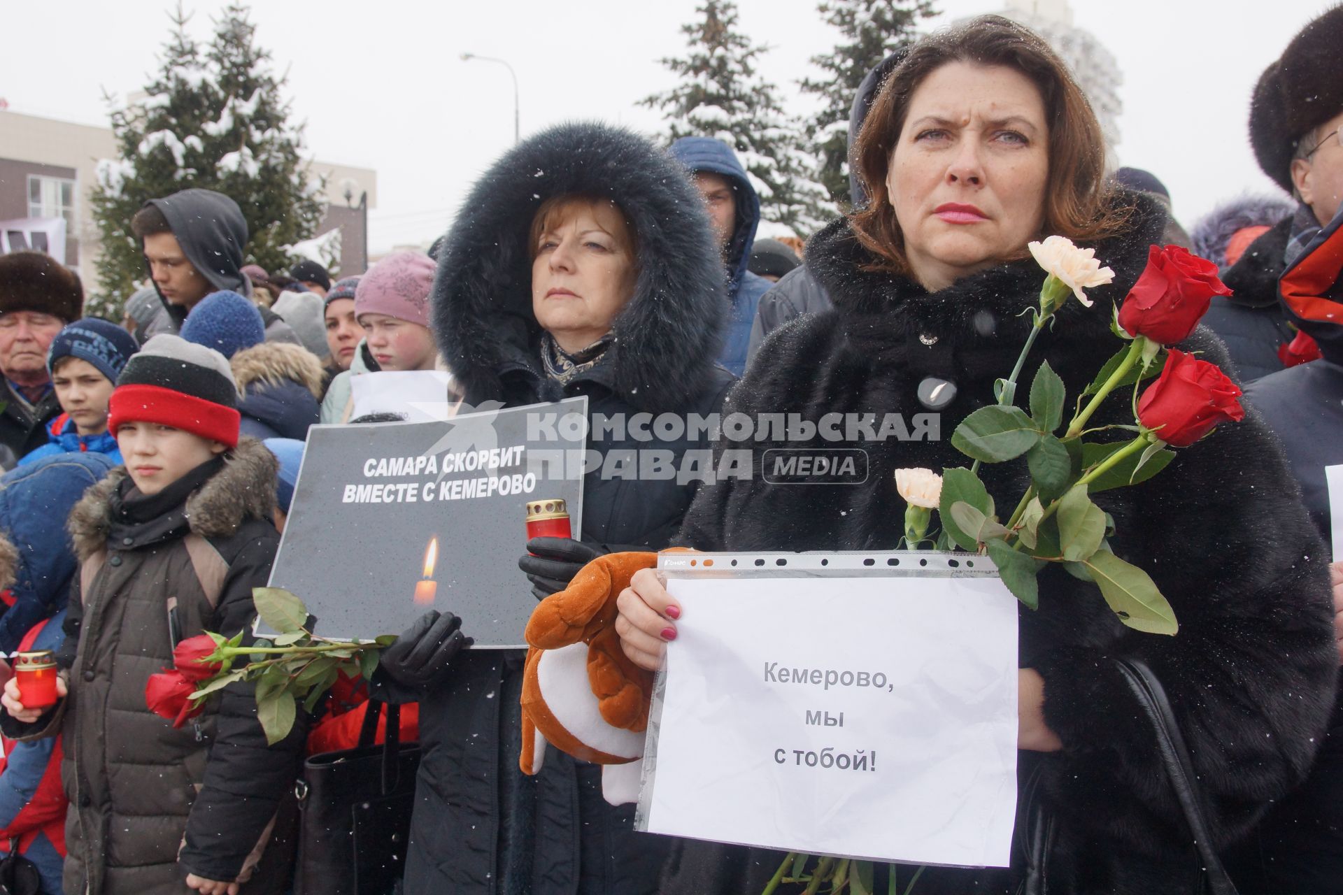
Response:
[[[103,290],[94,311],[114,313],[146,279],[130,219],[149,199],[192,187],[232,197],[251,233],[244,256],[266,270],[287,268],[293,259],[282,246],[312,236],[321,219],[321,184],[301,154],[302,127],[289,122],[283,81],[255,46],[247,8],[226,7],[207,46],[187,34],[180,5],[171,17],[173,31],[145,95],[113,102],[120,158],[99,161],[93,189]]]

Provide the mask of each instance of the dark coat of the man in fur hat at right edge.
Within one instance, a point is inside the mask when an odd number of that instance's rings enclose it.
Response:
[[[1242,384],[1281,370],[1277,349],[1296,335],[1277,301],[1277,278],[1283,274],[1283,251],[1291,229],[1289,215],[1250,243],[1222,275],[1234,294],[1214,295],[1203,317],[1203,325],[1226,344],[1234,366],[1229,372]]]

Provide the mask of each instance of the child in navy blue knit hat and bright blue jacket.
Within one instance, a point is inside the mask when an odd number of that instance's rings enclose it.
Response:
[[[47,350],[47,369],[63,412],[47,425],[48,441],[19,466],[75,451],[106,454],[113,463],[121,463],[117,439],[107,433],[107,400],[138,348],[130,333],[95,317],[60,330]]]

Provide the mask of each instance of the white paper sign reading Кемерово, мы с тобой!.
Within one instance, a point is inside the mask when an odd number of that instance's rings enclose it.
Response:
[[[674,574],[641,829],[1009,864],[1017,601],[1001,580]]]

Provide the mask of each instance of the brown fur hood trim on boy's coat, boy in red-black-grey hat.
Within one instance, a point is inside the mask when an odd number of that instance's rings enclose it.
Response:
[[[269,519],[275,507],[275,455],[244,437],[224,458],[224,468],[187,498],[187,523],[203,538],[227,538],[248,518]],[[111,496],[128,475],[118,466],[89,488],[70,513],[70,537],[83,562],[106,547],[111,530]]]

